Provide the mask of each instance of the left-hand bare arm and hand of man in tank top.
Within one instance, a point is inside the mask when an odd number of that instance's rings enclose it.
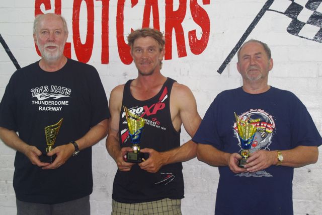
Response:
[[[131,151],[130,147],[120,148],[119,144],[119,116],[122,106],[124,85],[117,86],[111,92],[110,96],[110,112],[111,118],[109,121],[109,132],[106,138],[106,149],[110,156],[114,159],[120,171],[130,171],[134,165],[124,161],[126,152]]]

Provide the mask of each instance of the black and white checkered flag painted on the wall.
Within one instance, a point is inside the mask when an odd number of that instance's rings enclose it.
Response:
[[[282,1],[274,1],[279,3]],[[292,19],[287,27],[287,32],[308,40],[322,43],[322,0],[289,0],[284,3],[289,4],[285,11],[274,10],[274,4],[268,11],[274,11]],[[319,7],[321,5],[321,7]],[[316,11],[320,9],[321,12]]]

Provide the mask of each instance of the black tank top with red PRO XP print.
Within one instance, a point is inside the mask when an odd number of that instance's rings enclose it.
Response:
[[[151,99],[136,100],[130,92],[129,80],[124,86],[123,105],[144,118],[140,147],[165,152],[180,147],[180,131],[174,128],[170,114],[170,94],[174,80],[168,78],[162,89]],[[120,146],[131,147],[123,108],[120,113]],[[148,173],[135,164],[129,172],[117,170],[112,198],[119,202],[138,203],[163,198],[184,197],[182,164],[163,166],[157,173]]]

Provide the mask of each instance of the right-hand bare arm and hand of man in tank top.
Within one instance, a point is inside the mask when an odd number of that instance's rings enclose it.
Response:
[[[201,117],[197,112],[195,97],[188,87],[174,84],[171,94],[171,114],[174,127],[179,130],[183,123],[188,134],[193,137],[199,127]],[[157,172],[164,165],[184,162],[196,157],[196,150],[197,144],[192,140],[181,147],[162,153],[152,149],[143,149],[141,152],[149,153],[150,157],[139,166],[148,172]]]

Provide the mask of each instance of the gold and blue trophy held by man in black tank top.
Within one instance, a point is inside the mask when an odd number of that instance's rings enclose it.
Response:
[[[129,163],[141,163],[147,159],[147,153],[140,152],[140,142],[141,142],[141,135],[143,132],[143,127],[145,121],[142,117],[139,117],[133,113],[131,113],[125,106],[123,106],[125,117],[127,121],[127,125],[129,128],[129,134],[132,142],[132,150],[133,152],[126,153],[124,157],[125,162]]]

